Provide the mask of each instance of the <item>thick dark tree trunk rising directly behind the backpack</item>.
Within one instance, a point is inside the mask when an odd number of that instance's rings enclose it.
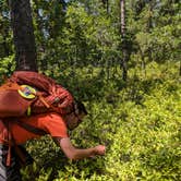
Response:
[[[37,71],[37,55],[29,0],[10,0],[16,70]]]

